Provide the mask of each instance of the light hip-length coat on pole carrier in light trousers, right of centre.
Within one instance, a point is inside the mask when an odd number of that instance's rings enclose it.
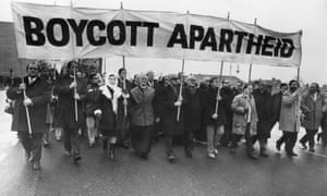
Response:
[[[258,122],[255,100],[254,97],[251,96],[251,99],[246,98],[244,94],[240,94],[234,97],[231,108],[233,110],[233,124],[232,124],[232,133],[238,135],[244,135],[249,112],[245,111],[245,108],[251,106],[251,122],[250,122],[250,134],[256,135],[256,124]],[[249,108],[249,107],[247,107]]]

